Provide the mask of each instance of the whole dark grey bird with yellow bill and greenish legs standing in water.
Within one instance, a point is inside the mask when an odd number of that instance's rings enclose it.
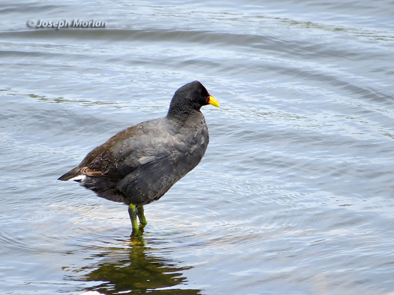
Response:
[[[208,104],[219,107],[199,81],[180,87],[166,116],[120,131],[58,180],[75,180],[101,198],[124,203],[131,236],[142,235],[144,206],[159,200],[204,156],[209,134],[200,108]]]

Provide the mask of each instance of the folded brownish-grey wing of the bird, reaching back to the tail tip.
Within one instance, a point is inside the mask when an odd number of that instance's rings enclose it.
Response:
[[[168,134],[165,127],[162,118],[159,118],[122,130],[94,148],[78,167],[59,179],[86,175],[119,181],[141,166],[161,162],[170,157],[174,143],[173,136]]]

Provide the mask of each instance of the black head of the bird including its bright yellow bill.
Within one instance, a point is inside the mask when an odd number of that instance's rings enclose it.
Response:
[[[186,113],[199,111],[207,104],[219,107],[219,103],[208,93],[207,89],[200,82],[193,81],[175,91],[167,117],[184,117]]]

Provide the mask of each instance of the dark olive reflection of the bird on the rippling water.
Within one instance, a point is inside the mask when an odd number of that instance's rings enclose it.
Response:
[[[202,294],[201,290],[179,288],[185,287],[188,282],[183,271],[192,267],[176,266],[179,262],[155,255],[160,250],[147,246],[147,242],[140,237],[130,237],[122,244],[123,247],[100,248],[100,253],[88,258],[98,262],[73,271],[86,274],[67,276],[66,279],[97,282],[94,287],[83,291],[98,291],[106,295],[147,292],[160,295]]]

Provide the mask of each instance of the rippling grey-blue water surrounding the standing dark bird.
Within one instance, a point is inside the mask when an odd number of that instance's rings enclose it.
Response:
[[[394,294],[393,7],[2,1],[0,293]],[[56,179],[193,80],[210,144],[131,238]]]

